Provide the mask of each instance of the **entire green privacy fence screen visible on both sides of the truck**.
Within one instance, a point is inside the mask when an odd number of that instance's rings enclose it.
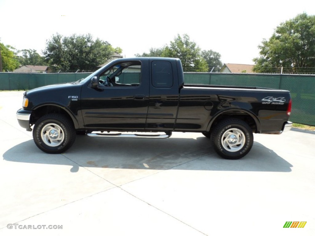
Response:
[[[29,90],[56,83],[77,81],[91,73],[0,73],[0,90]],[[290,121],[315,126],[315,75],[184,73],[186,84],[251,86],[291,92]],[[124,83],[128,81],[123,81]],[[132,82],[132,81],[130,81]]]

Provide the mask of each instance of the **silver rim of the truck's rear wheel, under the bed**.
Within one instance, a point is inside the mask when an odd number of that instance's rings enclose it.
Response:
[[[240,129],[228,129],[222,135],[221,143],[226,151],[237,152],[245,145],[245,135]]]

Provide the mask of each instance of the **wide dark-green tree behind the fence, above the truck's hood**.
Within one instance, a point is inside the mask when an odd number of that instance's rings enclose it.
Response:
[[[113,48],[107,41],[99,38],[94,41],[90,34],[63,37],[57,33],[46,42],[43,54],[55,69],[95,70],[110,59],[115,49],[122,52],[121,48]]]

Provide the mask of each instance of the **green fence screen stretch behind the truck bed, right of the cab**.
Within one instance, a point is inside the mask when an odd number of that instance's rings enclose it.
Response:
[[[315,75],[185,73],[185,83],[289,90],[290,121],[315,126]]]

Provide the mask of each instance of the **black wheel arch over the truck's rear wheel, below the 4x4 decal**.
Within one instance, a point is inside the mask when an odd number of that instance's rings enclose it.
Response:
[[[261,124],[257,116],[252,112],[243,109],[228,109],[219,112],[209,121],[207,132],[211,132],[211,129],[215,124],[228,118],[237,118],[245,121],[251,127],[253,132],[260,132]]]

